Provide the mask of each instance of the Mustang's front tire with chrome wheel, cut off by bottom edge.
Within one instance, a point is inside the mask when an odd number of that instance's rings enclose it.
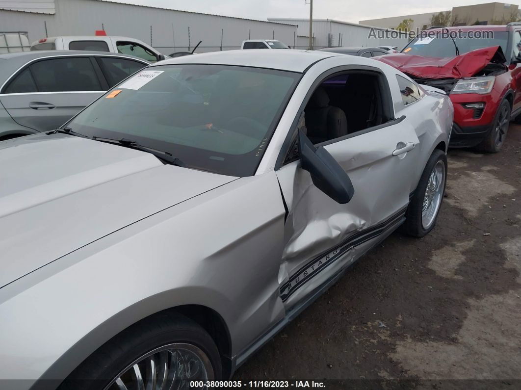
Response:
[[[191,381],[221,379],[219,351],[212,337],[187,317],[154,314],[98,348],[58,390],[205,388]]]

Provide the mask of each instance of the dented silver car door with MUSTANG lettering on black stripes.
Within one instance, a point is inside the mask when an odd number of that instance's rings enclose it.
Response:
[[[389,89],[387,79],[382,80],[383,74],[373,76],[379,81],[375,83],[378,88]],[[338,86],[338,73],[335,80]],[[389,91],[374,91],[380,98],[379,106],[374,107],[380,116],[376,122],[383,123],[354,129],[354,132],[347,129],[343,136],[315,142],[315,146],[325,148],[348,174],[354,187],[349,203],[338,203],[315,185],[298,156],[297,134],[307,132],[309,139],[317,139],[315,118],[309,113],[315,110],[312,102],[317,100],[317,93],[322,95],[322,103],[329,100],[324,95],[326,84],[327,77],[318,82],[311,98],[308,95],[311,103],[305,106],[308,111],[305,120],[301,113],[285,163],[276,171],[287,207],[279,272],[280,297],[286,308],[327,283],[403,222],[414,185],[415,146],[419,140],[406,117],[394,119],[393,113],[385,112],[387,107],[392,107],[392,102],[387,100],[391,100]],[[354,85],[346,83],[346,88],[349,87]],[[333,99],[332,89],[329,94]],[[340,108],[328,107],[332,106],[321,107],[328,110],[327,114],[319,113],[324,119],[321,126],[325,133],[331,130],[328,129],[331,123],[344,120]],[[342,131],[333,133],[339,135]]]

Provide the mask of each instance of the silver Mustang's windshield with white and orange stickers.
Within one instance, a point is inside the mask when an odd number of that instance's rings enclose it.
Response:
[[[255,173],[300,73],[222,65],[163,65],[107,92],[67,127],[168,152],[188,167]]]

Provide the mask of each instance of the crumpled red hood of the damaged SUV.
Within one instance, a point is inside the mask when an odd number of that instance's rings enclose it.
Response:
[[[473,77],[490,62],[506,62],[501,46],[476,49],[455,57],[433,58],[408,54],[388,54],[377,58],[387,65],[424,79]]]

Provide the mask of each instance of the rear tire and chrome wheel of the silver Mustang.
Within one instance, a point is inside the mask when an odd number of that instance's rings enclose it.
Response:
[[[403,230],[414,237],[423,237],[436,224],[447,180],[447,157],[436,149],[429,157],[411,202],[405,213]]]

